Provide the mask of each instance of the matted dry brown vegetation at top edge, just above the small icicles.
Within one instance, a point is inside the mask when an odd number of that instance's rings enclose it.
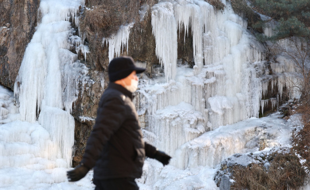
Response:
[[[109,37],[121,25],[140,21],[139,9],[144,3],[153,5],[155,0],[88,0],[80,21],[82,35],[87,32],[99,38]]]

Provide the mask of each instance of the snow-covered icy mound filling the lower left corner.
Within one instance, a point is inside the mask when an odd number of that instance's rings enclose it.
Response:
[[[13,92],[0,86],[0,190],[92,190],[92,172],[70,183],[66,161],[38,121],[18,120]]]

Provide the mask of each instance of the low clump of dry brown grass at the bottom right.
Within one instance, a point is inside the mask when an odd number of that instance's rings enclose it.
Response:
[[[270,155],[268,170],[260,164],[247,167],[234,166],[232,190],[287,190],[304,184],[306,173],[299,158],[290,153]]]

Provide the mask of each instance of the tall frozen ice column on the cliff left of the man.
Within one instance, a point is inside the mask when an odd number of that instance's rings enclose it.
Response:
[[[77,55],[68,50],[69,37],[73,35],[69,19],[75,17],[78,24],[76,13],[83,4],[83,0],[40,2],[41,22],[26,48],[14,86],[20,119],[34,123],[39,118],[39,123],[49,132],[52,145],[43,149],[42,155],[51,160],[64,159],[66,167],[71,166],[75,127],[69,113],[75,97],[68,94],[77,94],[68,92],[75,89],[66,88],[63,76],[71,77],[63,69],[70,68],[65,65],[78,65]],[[71,72],[71,75],[85,75],[81,73]],[[63,107],[68,110],[64,111]]]

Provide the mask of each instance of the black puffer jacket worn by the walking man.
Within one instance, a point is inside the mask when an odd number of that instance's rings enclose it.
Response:
[[[93,131],[81,163],[93,168],[94,179],[140,178],[145,156],[156,148],[143,142],[132,93],[110,83],[103,93]]]

